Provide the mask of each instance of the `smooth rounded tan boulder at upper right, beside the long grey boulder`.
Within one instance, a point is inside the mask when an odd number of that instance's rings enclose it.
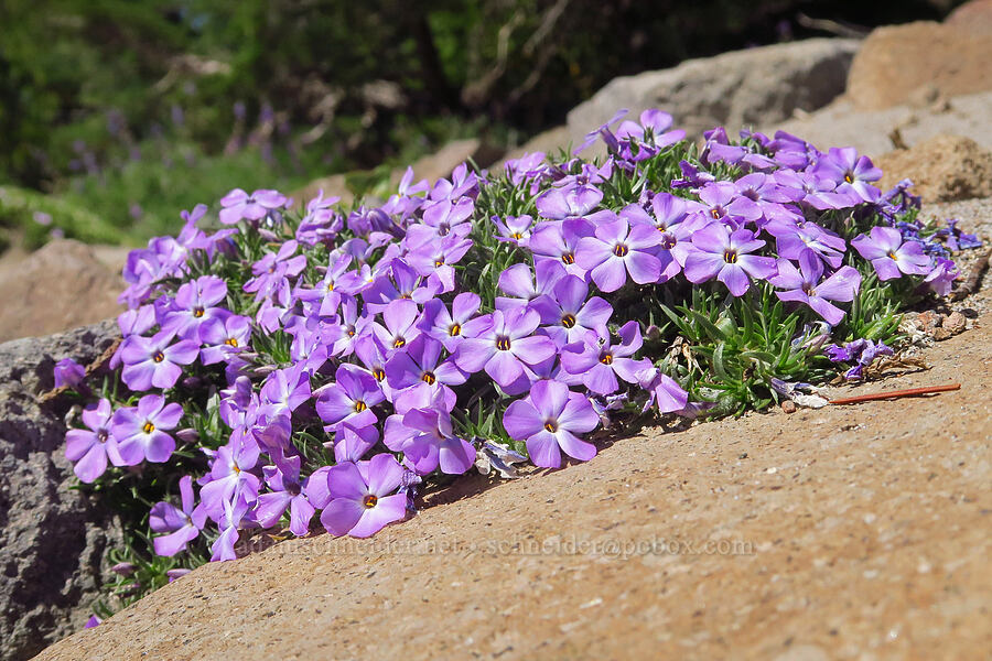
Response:
[[[905,104],[923,86],[947,97],[992,89],[992,32],[919,21],[873,31],[848,76],[847,97],[859,110]]]

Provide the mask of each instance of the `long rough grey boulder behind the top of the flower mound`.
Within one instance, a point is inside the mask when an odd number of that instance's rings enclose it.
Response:
[[[615,78],[569,112],[569,131],[579,144],[617,108],[628,108],[634,118],[647,108],[660,108],[690,134],[716,124],[740,129],[780,121],[796,110],[816,110],[840,95],[859,43],[812,39]]]

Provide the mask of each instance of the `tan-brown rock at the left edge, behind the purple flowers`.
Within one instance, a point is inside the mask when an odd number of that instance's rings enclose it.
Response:
[[[0,342],[58,333],[121,312],[117,303],[125,285],[120,270],[115,272],[86,243],[55,240],[22,260],[4,262],[0,266]]]

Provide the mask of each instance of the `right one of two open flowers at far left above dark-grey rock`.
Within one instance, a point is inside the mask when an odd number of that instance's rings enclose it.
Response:
[[[115,442],[107,446],[110,460],[116,466],[137,466],[145,459],[166,462],[175,449],[175,438],[165,432],[175,429],[182,416],[183,408],[166,404],[161,394],[145,394],[137,407],[118,409],[110,425]]]

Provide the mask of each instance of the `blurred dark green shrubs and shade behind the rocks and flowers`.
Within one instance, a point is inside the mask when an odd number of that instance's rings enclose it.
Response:
[[[0,250],[137,242],[231,187],[515,147],[617,75],[958,0],[2,0]],[[4,234],[6,232],[6,234]]]

